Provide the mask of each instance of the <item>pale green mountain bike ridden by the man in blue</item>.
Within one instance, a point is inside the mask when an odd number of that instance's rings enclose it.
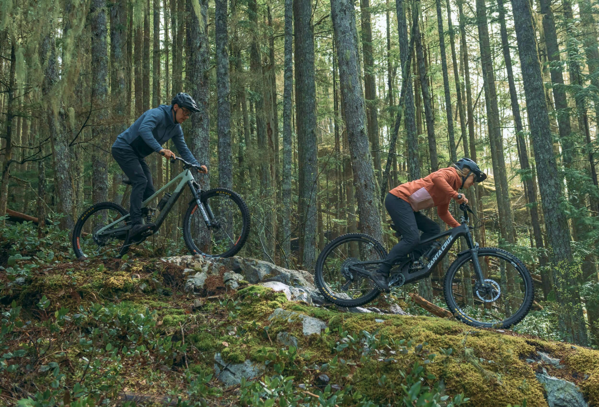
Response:
[[[155,223],[153,229],[131,236],[129,212],[125,208],[113,202],[96,203],[85,209],[75,224],[72,245],[77,259],[122,257],[131,245],[140,244],[160,229],[186,185],[193,195],[183,218],[183,239],[189,251],[204,257],[230,257],[240,251],[250,232],[250,212],[246,203],[229,189],[202,191],[191,172],[199,167],[180,157],[171,159],[171,163],[177,161],[183,163],[183,172],[141,204],[142,221]],[[123,183],[131,184],[131,181]],[[165,192],[174,185],[172,195]],[[158,203],[159,215],[153,219],[156,208],[148,205],[162,192],[165,194]]]

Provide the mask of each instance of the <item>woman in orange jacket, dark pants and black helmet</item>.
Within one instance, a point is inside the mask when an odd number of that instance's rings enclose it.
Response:
[[[449,203],[468,202],[458,189],[468,189],[473,183],[486,179],[486,174],[471,159],[462,158],[453,166],[441,168],[419,180],[401,184],[387,194],[385,208],[391,220],[401,233],[401,241],[396,244],[373,272],[374,283],[383,291],[389,291],[389,270],[400,259],[410,253],[418,259],[432,244],[420,246],[420,241],[437,235],[441,228],[435,221],[420,212],[422,209],[437,207],[438,216],[449,226],[457,227],[459,222],[449,213]],[[461,196],[461,198],[458,198]],[[422,236],[420,235],[422,230]]]

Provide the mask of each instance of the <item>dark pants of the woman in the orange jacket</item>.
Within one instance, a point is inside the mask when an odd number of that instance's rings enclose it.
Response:
[[[431,246],[420,245],[420,241],[428,239],[441,232],[441,228],[435,221],[422,212],[414,212],[410,203],[392,193],[385,198],[385,208],[391,220],[401,233],[401,241],[396,244],[387,255],[385,262],[379,267],[380,271],[389,273],[395,262],[404,259],[408,254],[414,253],[416,259]],[[422,230],[422,235],[420,235]]]

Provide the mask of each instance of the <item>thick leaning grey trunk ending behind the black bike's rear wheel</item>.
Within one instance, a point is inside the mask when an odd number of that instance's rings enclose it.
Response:
[[[382,241],[379,189],[370,159],[368,135],[365,134],[364,97],[359,77],[358,33],[353,2],[331,0],[331,15],[337,44],[339,80],[361,230]]]

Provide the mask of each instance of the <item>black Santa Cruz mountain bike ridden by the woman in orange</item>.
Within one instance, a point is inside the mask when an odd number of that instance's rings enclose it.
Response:
[[[421,244],[434,242],[423,255],[426,263],[416,262],[413,255],[391,269],[389,287],[401,287],[427,277],[443,259],[459,236],[467,250],[458,253],[449,266],[443,294],[449,311],[462,322],[476,327],[504,328],[519,323],[534,299],[533,280],[524,263],[507,251],[482,247],[473,241],[468,226],[465,203],[458,227],[439,233]],[[391,225],[395,229],[394,225]],[[397,229],[396,229],[397,231]],[[399,236],[399,233],[397,233]],[[439,239],[446,237],[444,241]],[[379,295],[371,272],[387,256],[383,245],[371,236],[348,233],[339,236],[323,249],[316,262],[316,282],[322,294],[341,306],[359,306]]]

